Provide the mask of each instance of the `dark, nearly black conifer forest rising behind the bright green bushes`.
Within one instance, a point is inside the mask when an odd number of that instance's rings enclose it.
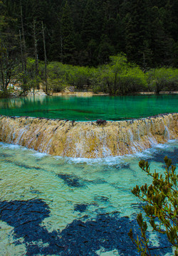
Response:
[[[19,35],[23,18],[28,56],[34,56],[35,20],[40,60],[44,59],[43,21],[50,61],[97,66],[107,63],[110,55],[126,53],[127,59],[142,70],[178,65],[176,0],[4,0],[1,3],[4,15],[16,20],[14,34]]]

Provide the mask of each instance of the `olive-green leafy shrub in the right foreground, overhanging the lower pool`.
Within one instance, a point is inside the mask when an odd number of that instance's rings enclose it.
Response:
[[[136,186],[132,193],[145,203],[143,210],[146,216],[150,218],[150,225],[153,230],[167,234],[167,239],[174,245],[174,255],[178,255],[178,175],[176,167],[172,166],[172,160],[167,156],[164,158],[166,168],[164,175],[150,172],[150,166],[147,161],[140,161],[140,168],[152,177],[152,184],[147,186]],[[159,220],[159,225],[157,225]],[[149,239],[147,238],[147,223],[143,220],[142,213],[137,215],[137,223],[140,226],[142,238],[137,240],[133,238],[132,229],[130,229],[130,238],[137,246],[138,252],[142,256],[151,255],[149,249]]]

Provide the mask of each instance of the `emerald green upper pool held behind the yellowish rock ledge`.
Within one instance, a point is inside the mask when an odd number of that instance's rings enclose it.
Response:
[[[178,112],[178,95],[35,96],[0,100],[0,114],[78,121],[122,120]]]

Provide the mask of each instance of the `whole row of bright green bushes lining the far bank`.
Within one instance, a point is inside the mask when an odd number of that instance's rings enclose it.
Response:
[[[124,54],[110,57],[110,62],[98,68],[80,67],[51,62],[47,65],[47,80],[45,82],[45,65],[27,58],[26,73],[20,65],[14,68],[10,81],[20,85],[21,95],[29,90],[36,90],[39,85],[48,94],[63,92],[70,87],[75,91],[104,92],[110,95],[128,95],[143,92],[174,91],[178,86],[178,69],[155,68],[144,73],[138,65],[129,63]],[[5,90],[4,90],[5,88]],[[11,89],[12,90],[12,89]],[[8,87],[1,87],[1,95],[8,97]]]

